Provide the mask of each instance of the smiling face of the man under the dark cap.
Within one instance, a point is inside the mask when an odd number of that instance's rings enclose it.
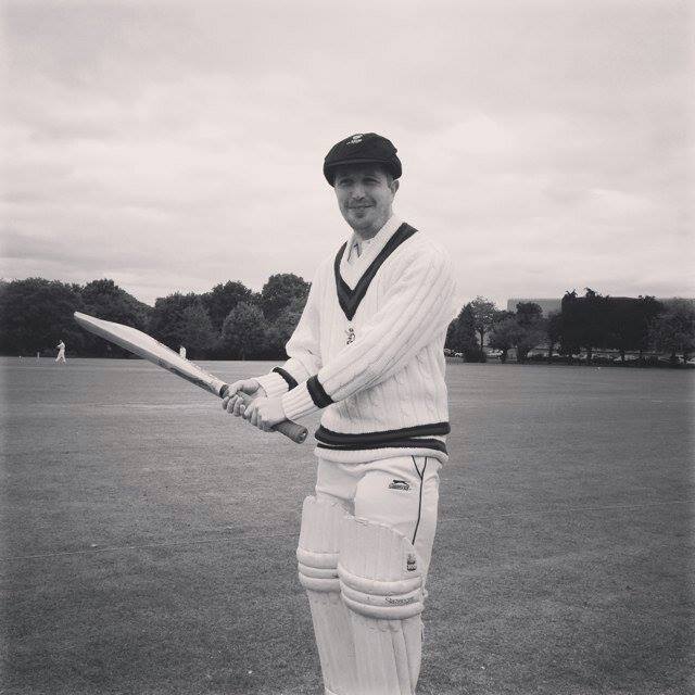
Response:
[[[399,181],[382,168],[366,164],[340,167],[333,188],[345,222],[368,239],[391,217]]]

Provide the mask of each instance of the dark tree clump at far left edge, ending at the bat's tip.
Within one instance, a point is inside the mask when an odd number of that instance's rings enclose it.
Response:
[[[53,350],[59,340],[67,355],[79,354],[85,333],[73,313],[84,311],[83,299],[74,286],[28,278],[0,286],[0,352],[28,355]]]

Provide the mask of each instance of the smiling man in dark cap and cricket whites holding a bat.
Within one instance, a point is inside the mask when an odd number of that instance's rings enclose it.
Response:
[[[420,669],[454,282],[446,252],[393,214],[401,173],[374,132],[331,148],[324,175],[353,233],[319,266],[289,359],[231,384],[248,407],[223,403],[266,431],[325,408],[298,559],[331,695],[412,695]]]

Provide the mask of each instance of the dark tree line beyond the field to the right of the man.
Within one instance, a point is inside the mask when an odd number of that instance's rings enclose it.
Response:
[[[509,312],[477,296],[450,325],[446,349],[467,362],[485,362],[492,349],[502,362],[510,351],[521,363],[531,351],[543,351],[534,357],[571,362],[582,355],[592,363],[597,351],[610,350],[623,363],[628,353],[642,363],[661,353],[677,364],[695,352],[695,304],[684,299],[612,298],[586,288],[583,296],[566,292],[560,311],[544,316],[533,302],[519,302],[516,312]]]

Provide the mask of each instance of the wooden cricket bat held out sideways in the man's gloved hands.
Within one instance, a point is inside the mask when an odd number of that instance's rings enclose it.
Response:
[[[104,338],[116,345],[121,345],[124,350],[163,367],[177,377],[181,377],[181,379],[186,379],[197,387],[214,393],[220,399],[232,395],[229,393],[229,384],[225,383],[222,379],[201,369],[198,365],[194,365],[185,357],[179,356],[178,353],[169,350],[166,345],[163,345],[137,328],[106,321],[102,318],[89,316],[88,314],[80,314],[79,312],[75,312],[75,320],[90,333]],[[253,396],[247,393],[238,392],[237,395],[240,396],[245,404],[253,401]],[[304,442],[308,434],[305,427],[296,422],[291,422],[290,420],[279,422],[274,429],[298,444]]]

